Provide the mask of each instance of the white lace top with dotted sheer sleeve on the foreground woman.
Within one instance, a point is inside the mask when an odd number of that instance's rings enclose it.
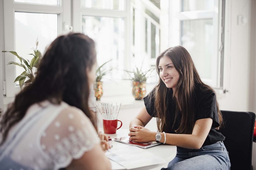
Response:
[[[0,146],[0,170],[65,168],[99,142],[81,110],[65,102],[34,104]]]

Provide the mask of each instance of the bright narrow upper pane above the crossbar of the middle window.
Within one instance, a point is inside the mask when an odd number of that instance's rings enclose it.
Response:
[[[81,0],[81,6],[87,8],[124,10],[125,0]]]

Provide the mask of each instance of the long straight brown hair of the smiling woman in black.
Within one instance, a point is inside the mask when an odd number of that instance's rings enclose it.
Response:
[[[195,84],[200,84],[199,88],[202,91],[212,91],[215,93],[214,89],[210,86],[204,84],[200,79],[200,76],[195,68],[194,62],[188,53],[188,51],[182,46],[170,47],[160,54],[156,59],[156,71],[159,75],[159,61],[163,56],[167,56],[173,61],[173,65],[180,73],[180,79],[176,90],[173,92],[173,99],[176,103],[176,113],[174,121],[176,121],[178,114],[180,114],[181,122],[179,127],[175,130],[177,133],[191,134],[194,127],[194,117],[195,117]],[[170,89],[166,87],[164,82],[159,76],[159,82],[155,87],[155,111],[157,114],[157,128],[160,132],[167,131],[170,129],[170,123],[167,122],[167,105],[168,98],[167,94]],[[217,112],[220,125],[222,124],[222,114],[218,107]]]

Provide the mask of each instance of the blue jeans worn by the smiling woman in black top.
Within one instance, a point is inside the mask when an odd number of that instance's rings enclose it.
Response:
[[[222,141],[200,149],[177,147],[176,157],[161,170],[230,170],[228,152]]]

